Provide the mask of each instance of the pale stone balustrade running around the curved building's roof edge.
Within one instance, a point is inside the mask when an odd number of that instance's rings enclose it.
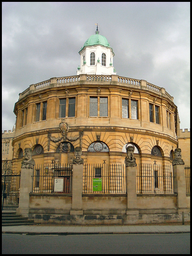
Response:
[[[128,85],[129,87],[130,85],[140,86],[141,88],[146,87],[146,89],[148,90],[152,90],[153,92],[157,92],[158,94],[166,96],[172,102],[174,99],[174,97],[172,97],[169,93],[167,93],[164,88],[161,88],[154,84],[147,83],[147,81],[145,80],[137,80],[137,79],[117,76],[117,75],[107,76],[107,75],[87,75],[87,74],[81,74],[78,76],[53,77],[37,84],[31,84],[25,91],[19,93],[19,99],[22,99],[27,94],[35,92],[36,90],[42,90],[43,88],[46,89],[46,87],[48,87],[51,84],[52,85],[55,84],[55,86],[58,86],[59,84],[79,83],[79,81],[108,82],[109,84],[111,84],[111,82],[117,82],[119,84]]]

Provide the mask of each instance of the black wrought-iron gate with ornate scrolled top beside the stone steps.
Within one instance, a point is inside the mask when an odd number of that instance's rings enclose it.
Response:
[[[7,160],[2,170],[2,210],[16,210],[19,206],[21,174],[13,174]]]

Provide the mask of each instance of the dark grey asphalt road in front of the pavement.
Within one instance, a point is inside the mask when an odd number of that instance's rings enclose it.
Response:
[[[67,236],[2,234],[2,254],[190,254],[190,233]]]

